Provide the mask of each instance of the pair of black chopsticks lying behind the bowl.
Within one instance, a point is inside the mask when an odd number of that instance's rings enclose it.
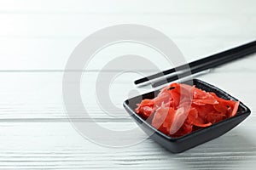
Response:
[[[169,74],[174,74],[158,82],[152,82],[152,87],[155,88],[165,84],[166,82],[172,82],[179,78],[188,77],[197,72],[205,71],[219,65],[224,65],[226,63],[229,63],[230,61],[233,61],[235,59],[241,59],[242,57],[245,57],[248,54],[253,54],[255,52],[256,52],[256,41],[248,42],[236,48],[231,48],[224,52],[213,54],[203,59],[195,60],[193,62],[190,62],[189,64],[180,65],[175,68],[162,71],[148,77],[143,77],[141,79],[136,80],[134,83],[140,84],[143,82],[151,81],[155,78],[160,78]]]

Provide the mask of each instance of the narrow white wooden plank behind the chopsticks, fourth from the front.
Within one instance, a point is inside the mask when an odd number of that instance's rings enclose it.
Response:
[[[211,18],[211,20],[209,20]],[[248,37],[255,35],[255,15],[55,15],[0,14],[0,37],[86,37],[121,23],[152,26],[170,37]],[[232,29],[230,29],[232,28]]]

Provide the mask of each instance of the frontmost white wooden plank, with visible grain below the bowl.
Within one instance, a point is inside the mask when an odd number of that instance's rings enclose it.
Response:
[[[151,139],[130,147],[102,147],[79,136],[67,122],[1,122],[0,168],[250,169],[256,163],[255,137],[248,136],[254,132],[253,122],[255,117],[223,137],[177,155]]]

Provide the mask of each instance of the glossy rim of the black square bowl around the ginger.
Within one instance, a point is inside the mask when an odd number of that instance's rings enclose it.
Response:
[[[218,93],[220,94],[224,94],[224,96],[232,99],[232,100],[235,100],[235,101],[238,101],[238,99],[236,99],[235,97],[231,96],[230,94],[224,92],[224,90],[220,89],[220,88],[217,88],[215,86],[213,86],[212,84],[209,84],[207,82],[204,82],[204,81],[201,81],[199,79],[192,79],[193,83],[194,82],[198,82],[198,83],[201,83],[211,89],[214,89],[215,91],[218,91]],[[185,82],[180,82],[180,83],[186,83],[188,81],[185,81]],[[161,89],[161,88],[160,88]],[[201,129],[198,129],[198,130],[195,130],[191,133],[188,133],[188,134],[185,134],[183,136],[180,136],[180,137],[171,137],[171,136],[168,136],[166,135],[165,133],[162,133],[160,132],[160,130],[158,130],[157,128],[153,127],[150,123],[148,123],[147,121],[145,121],[143,119],[143,117],[139,116],[135,111],[133,111],[133,109],[129,106],[129,100],[131,101],[132,99],[137,99],[138,97],[143,97],[145,95],[149,95],[149,94],[154,94],[154,93],[158,93],[160,92],[160,89],[156,89],[154,91],[150,91],[146,94],[141,94],[141,95],[137,95],[135,97],[132,97],[131,99],[126,99],[123,103],[123,106],[125,107],[126,110],[129,110],[128,112],[131,114],[131,116],[136,116],[137,119],[139,119],[142,123],[144,123],[145,125],[147,125],[147,127],[149,127],[151,130],[154,131],[154,133],[158,133],[160,134],[160,136],[164,137],[165,139],[168,139],[168,140],[171,140],[171,141],[177,141],[177,140],[184,140],[184,139],[189,139],[191,138],[191,136],[195,136],[196,134],[199,134],[199,133],[206,133],[207,131],[211,131],[212,128],[216,128],[216,127],[219,127],[227,122],[230,122],[230,120],[233,120],[233,119],[237,119],[239,118],[240,116],[244,116],[244,115],[250,115],[251,111],[250,109],[244,105],[241,100],[240,101],[240,104],[239,104],[239,107],[242,108],[242,111],[239,112],[238,114],[236,114],[236,116],[232,116],[232,117],[228,117],[226,119],[224,119],[223,121],[220,121],[220,122],[216,122],[214,124],[212,124],[211,126],[209,127],[204,127],[204,128],[201,128]]]

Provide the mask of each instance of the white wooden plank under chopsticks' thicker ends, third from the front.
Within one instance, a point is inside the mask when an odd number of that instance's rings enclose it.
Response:
[[[170,35],[172,37],[172,34]],[[175,37],[172,39],[188,62],[252,40],[240,37]],[[81,40],[82,38],[0,38],[0,71],[63,71],[69,55]],[[89,67],[85,69],[101,70],[108,61],[124,54],[141,55],[154,62],[161,70],[172,67],[172,64],[167,63],[166,59],[152,48],[133,43],[120,43],[96,54],[90,61]],[[253,69],[254,56],[243,59],[243,65],[237,62],[225,66],[224,69],[239,69],[241,66],[243,69]],[[252,62],[250,62],[251,59]]]

